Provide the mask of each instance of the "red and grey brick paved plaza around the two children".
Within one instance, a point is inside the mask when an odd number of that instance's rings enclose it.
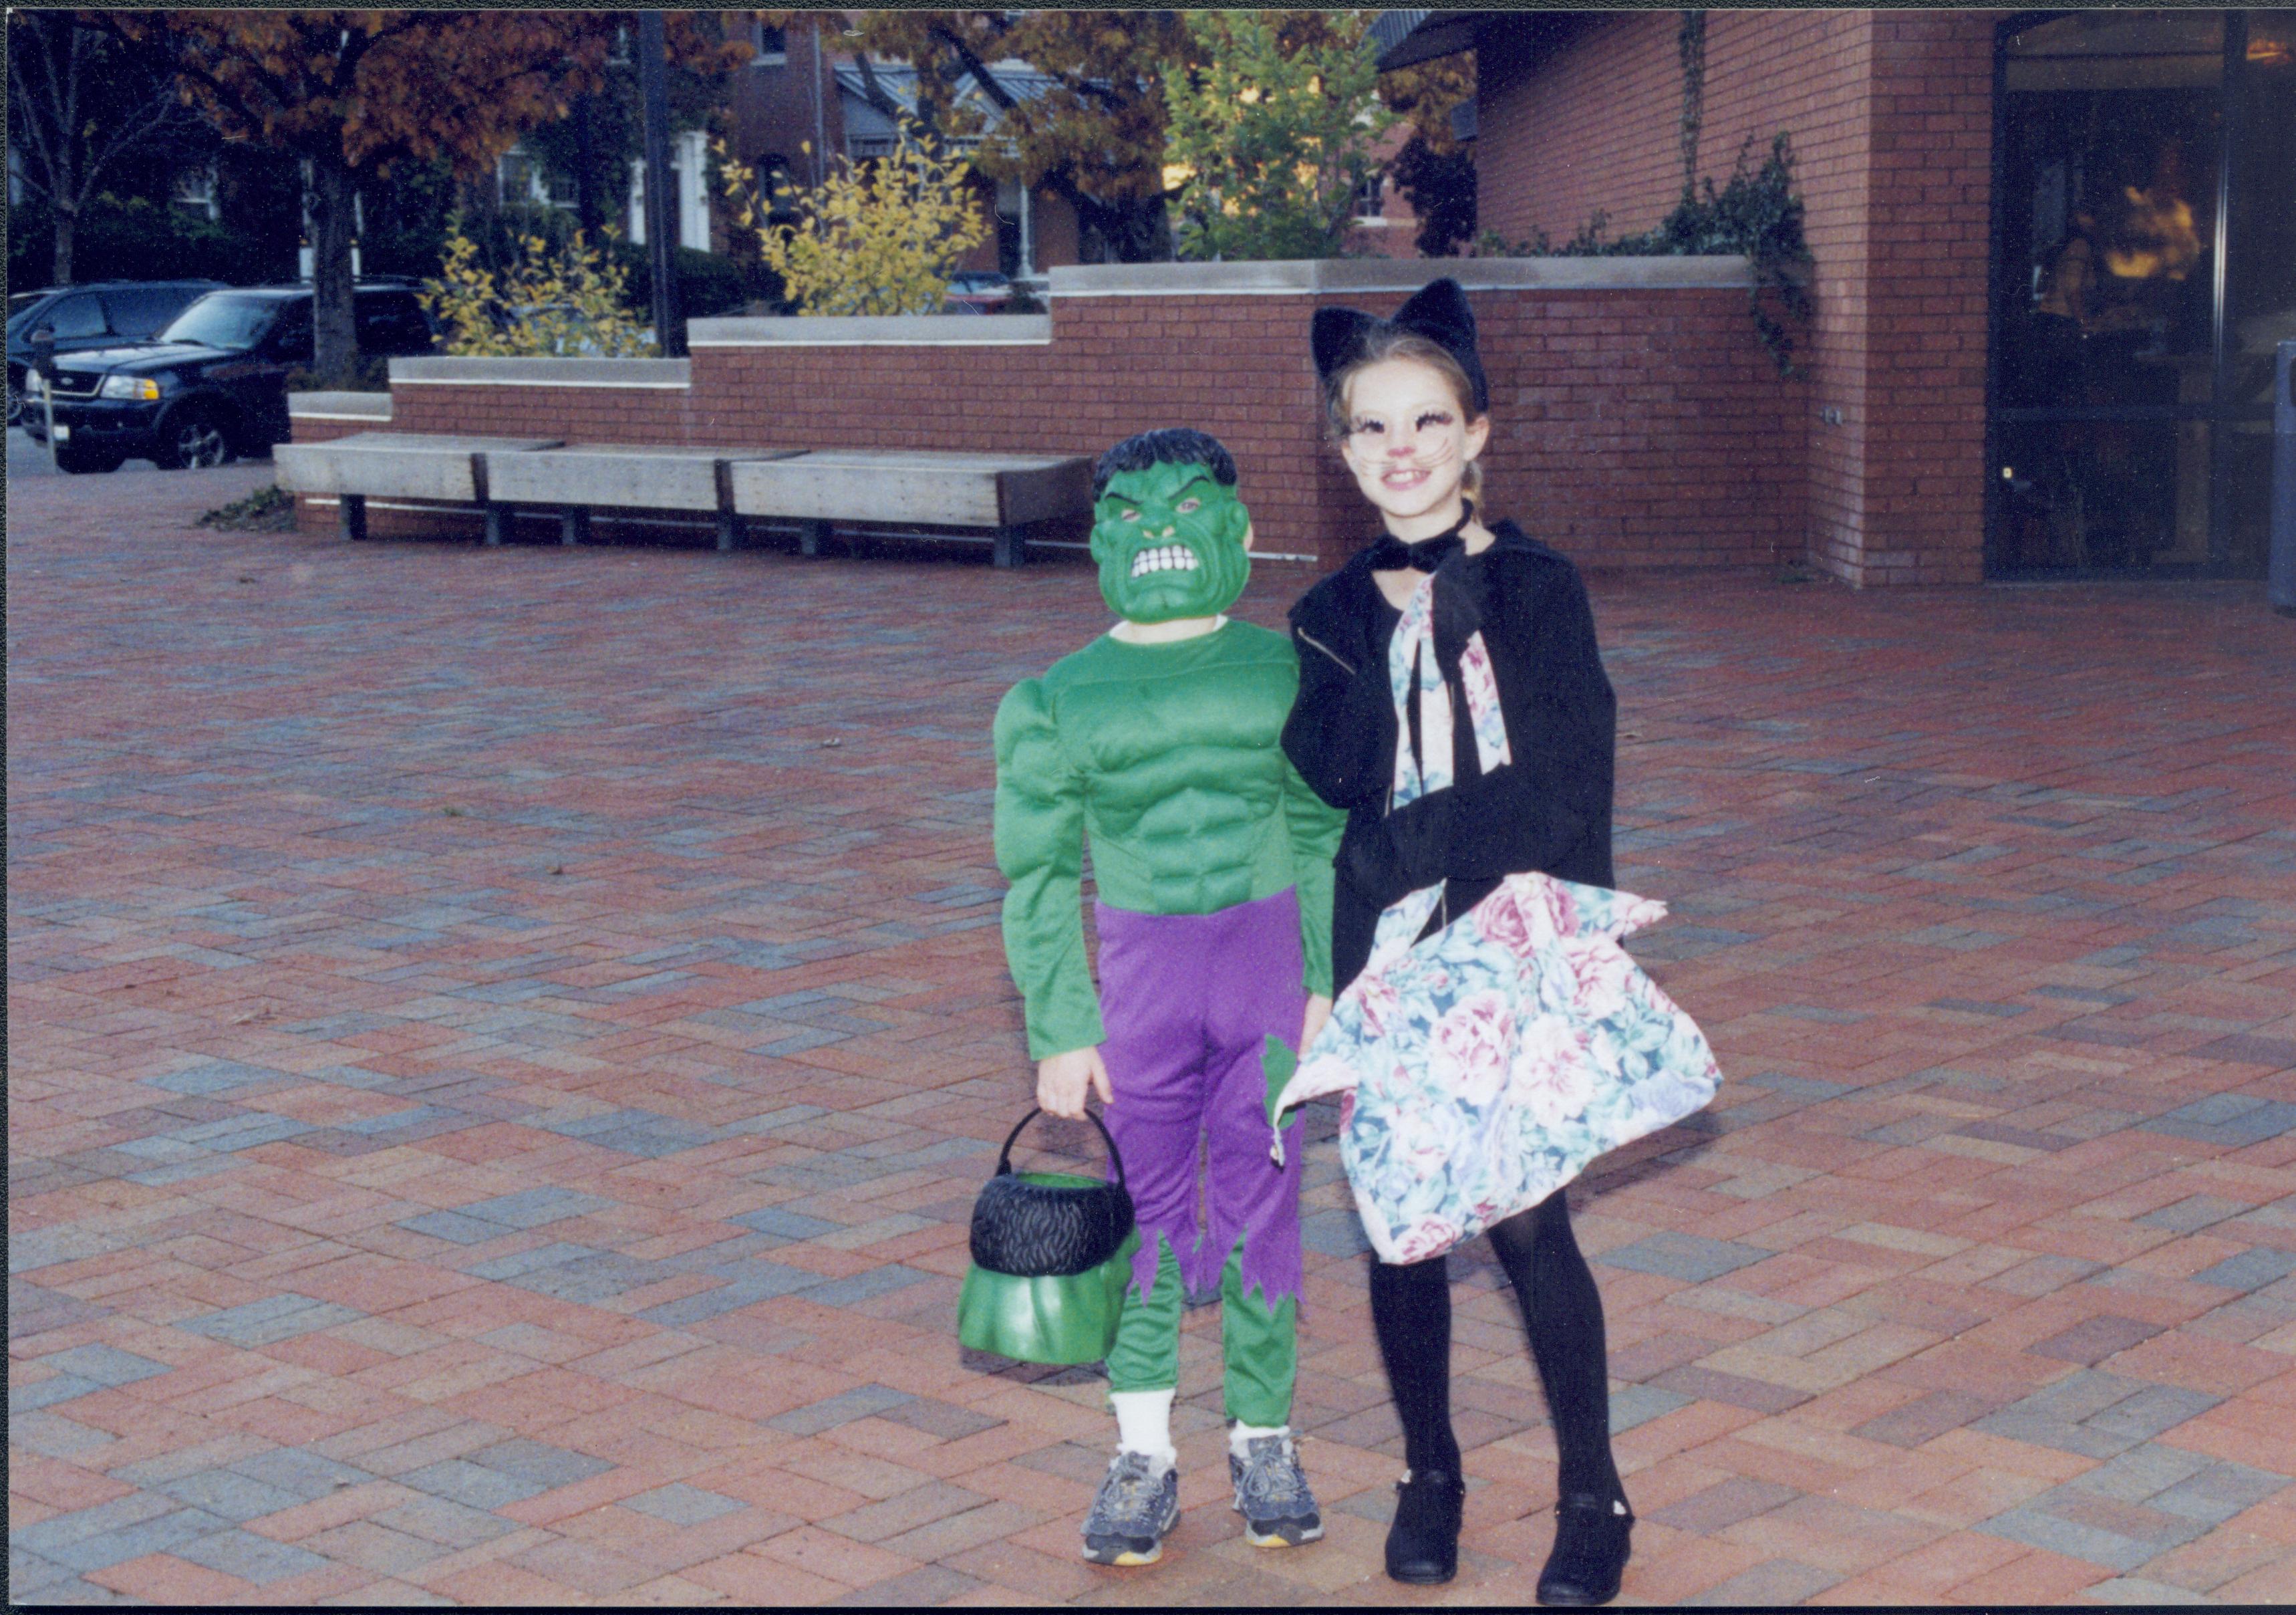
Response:
[[[1529,1604],[1481,1245],[1463,1574],[1378,1571],[1332,1112],[1325,1544],[1240,1539],[1212,1312],[1150,1571],[1077,1558],[1102,1381],[955,1346],[1029,1091],[987,724],[1086,567],[188,524],[269,476],[9,489],[14,1599]],[[1626,1601],[2296,1599],[2296,623],[1593,593],[1635,951],[1729,1075],[1573,1195]]]

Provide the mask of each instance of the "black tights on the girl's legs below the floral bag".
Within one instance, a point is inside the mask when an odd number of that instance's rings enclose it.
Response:
[[[1603,1346],[1603,1291],[1570,1234],[1570,1206],[1557,1190],[1529,1211],[1490,1227],[1531,1335],[1531,1362],[1548,1392],[1561,1491],[1621,1498],[1609,1456],[1609,1365]],[[1442,1257],[1371,1264],[1371,1328],[1403,1417],[1403,1461],[1412,1473],[1458,1475],[1451,1431],[1451,1273]]]

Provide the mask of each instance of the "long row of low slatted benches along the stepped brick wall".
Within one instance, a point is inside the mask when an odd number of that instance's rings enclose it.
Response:
[[[551,439],[360,432],[331,443],[282,443],[280,487],[333,494],[344,538],[365,538],[367,499],[478,503],[489,544],[519,508],[556,510],[560,540],[581,544],[592,510],[716,515],[716,547],[737,549],[751,517],[799,521],[799,549],[822,547],[840,521],[990,528],[1001,567],[1026,561],[1026,528],[1079,515],[1093,464],[1061,455],[953,450],[689,448],[563,443]]]

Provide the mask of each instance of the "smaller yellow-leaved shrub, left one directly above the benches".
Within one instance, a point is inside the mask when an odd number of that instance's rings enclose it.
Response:
[[[445,262],[420,296],[448,331],[448,354],[650,358],[661,349],[629,312],[627,292],[629,273],[579,230],[558,253],[542,237],[521,237],[519,257],[496,278],[455,216]]]

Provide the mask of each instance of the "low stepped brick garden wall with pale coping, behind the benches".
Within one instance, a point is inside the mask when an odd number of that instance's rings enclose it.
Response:
[[[1630,278],[1632,262],[1616,262],[1605,273]],[[1056,292],[1049,342],[703,345],[691,386],[661,391],[400,379],[390,427],[1097,455],[1132,432],[1187,423],[1235,450],[1261,549],[1339,565],[1375,528],[1320,439],[1306,329],[1318,303],[1389,312],[1403,296]],[[1492,386],[1495,512],[1587,567],[1743,567],[1800,554],[1802,388],[1779,381],[1754,342],[1743,289],[1469,296]],[[335,427],[298,418],[296,436]]]

